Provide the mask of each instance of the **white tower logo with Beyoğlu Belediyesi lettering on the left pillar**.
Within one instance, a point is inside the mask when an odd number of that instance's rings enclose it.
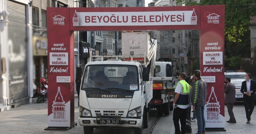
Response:
[[[55,97],[55,100],[52,104],[52,112],[53,112],[53,118],[56,120],[64,120],[65,119],[65,113],[66,113],[66,104],[65,101],[63,101],[63,97],[60,93],[60,87],[58,87],[58,92]]]

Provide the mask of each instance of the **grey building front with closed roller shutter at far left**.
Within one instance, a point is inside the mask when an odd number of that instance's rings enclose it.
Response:
[[[1,30],[2,88],[4,107],[28,104],[33,97],[32,81],[32,2],[2,0],[0,11],[8,23]],[[3,14],[1,14],[3,15]],[[3,16],[4,17],[4,16]],[[2,18],[1,18],[2,20]],[[3,23],[1,23],[1,27]],[[2,38],[3,37],[3,38]]]

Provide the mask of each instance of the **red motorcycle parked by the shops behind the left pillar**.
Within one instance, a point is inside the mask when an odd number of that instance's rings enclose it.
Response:
[[[41,88],[37,88],[37,99],[36,102],[46,102],[48,100],[48,81],[45,81],[44,78],[40,80]]]

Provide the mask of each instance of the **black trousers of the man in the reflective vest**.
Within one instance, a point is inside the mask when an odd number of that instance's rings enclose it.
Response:
[[[175,128],[175,134],[185,134],[186,133],[186,114],[187,114],[187,108],[174,108],[173,110],[173,124]],[[180,124],[179,124],[180,120]],[[181,127],[180,127],[181,125]],[[181,131],[180,131],[181,128]]]

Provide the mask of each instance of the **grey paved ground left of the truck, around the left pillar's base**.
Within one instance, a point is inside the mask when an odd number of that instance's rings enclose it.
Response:
[[[78,124],[78,96],[75,92],[74,114],[77,126],[70,130],[44,130],[48,127],[48,103],[30,103],[0,112],[0,134],[84,134]]]

